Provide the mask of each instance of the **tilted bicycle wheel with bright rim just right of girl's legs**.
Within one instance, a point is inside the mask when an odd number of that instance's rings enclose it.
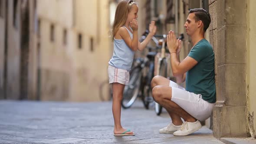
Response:
[[[128,85],[125,85],[123,92],[123,98],[121,101],[121,106],[123,108],[130,108],[138,97],[141,79],[141,67],[135,67],[130,71],[130,81]]]

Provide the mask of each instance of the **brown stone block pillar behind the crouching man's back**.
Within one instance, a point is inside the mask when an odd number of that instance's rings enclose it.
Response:
[[[246,137],[246,1],[210,0],[210,43],[215,53],[215,137]]]

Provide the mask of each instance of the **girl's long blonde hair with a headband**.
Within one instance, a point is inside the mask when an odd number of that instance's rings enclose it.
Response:
[[[112,27],[112,40],[114,39],[114,36],[117,33],[118,29],[121,26],[125,25],[127,15],[134,4],[137,5],[134,0],[122,0],[118,3],[115,10],[115,20]]]

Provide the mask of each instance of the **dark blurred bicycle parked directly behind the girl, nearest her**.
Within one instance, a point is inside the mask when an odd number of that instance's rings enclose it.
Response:
[[[141,42],[146,38],[147,34],[148,30],[141,36]],[[135,59],[134,65],[132,66],[130,82],[128,85],[125,85],[123,99],[121,101],[123,108],[130,108],[139,94],[146,109],[148,109],[149,104],[154,101],[152,97],[151,80],[154,77],[154,57],[157,52],[151,51],[159,49],[159,47],[158,39],[153,36],[152,40],[157,44],[157,47],[151,48],[147,46],[147,49],[149,49],[147,56],[144,59]],[[143,73],[146,73],[146,75],[143,75]]]

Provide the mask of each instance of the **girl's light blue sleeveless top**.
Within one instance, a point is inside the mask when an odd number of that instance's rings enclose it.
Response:
[[[125,29],[127,28],[125,27]],[[128,30],[128,33],[130,34],[132,39],[133,37],[132,33],[129,30]],[[125,40],[114,38],[113,56],[109,60],[108,64],[118,69],[126,69],[127,71],[130,71],[133,57],[134,57],[134,51],[132,51],[129,48],[129,46],[127,46],[127,44],[125,43]]]

